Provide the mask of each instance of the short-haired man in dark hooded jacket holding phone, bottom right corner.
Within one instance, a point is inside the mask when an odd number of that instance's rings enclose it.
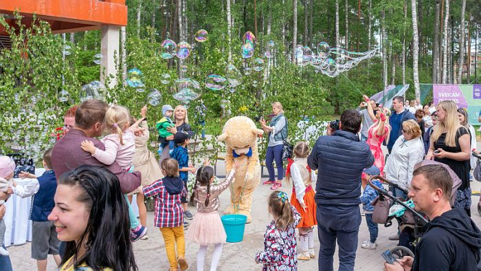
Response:
[[[384,270],[476,271],[480,259],[481,231],[462,209],[451,209],[453,180],[440,165],[421,166],[412,177],[408,194],[416,210],[431,220],[416,246],[414,259],[403,257]]]

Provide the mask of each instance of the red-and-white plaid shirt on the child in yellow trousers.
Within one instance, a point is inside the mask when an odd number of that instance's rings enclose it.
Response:
[[[187,191],[184,187],[177,195],[170,195],[162,180],[157,180],[144,187],[146,197],[154,197],[155,215],[154,226],[159,228],[178,227],[183,225],[183,209],[181,196],[186,197]]]

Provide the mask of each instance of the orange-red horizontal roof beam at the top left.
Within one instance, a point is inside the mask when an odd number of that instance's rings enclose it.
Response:
[[[89,25],[127,25],[124,0],[15,0],[0,1],[0,13],[19,11],[25,17]],[[71,32],[71,31],[64,31]]]

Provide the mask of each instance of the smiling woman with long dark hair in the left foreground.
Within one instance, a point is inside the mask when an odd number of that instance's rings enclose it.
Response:
[[[79,166],[58,178],[49,215],[65,241],[60,271],[135,270],[128,207],[120,182],[102,166]]]

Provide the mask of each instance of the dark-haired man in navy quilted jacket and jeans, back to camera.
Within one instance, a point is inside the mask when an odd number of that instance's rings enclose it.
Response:
[[[318,169],[315,187],[319,270],[333,270],[339,244],[339,270],[354,270],[357,234],[361,225],[361,173],[374,164],[368,144],[360,142],[361,115],[353,109],[341,115],[339,130],[317,139],[307,160]]]

